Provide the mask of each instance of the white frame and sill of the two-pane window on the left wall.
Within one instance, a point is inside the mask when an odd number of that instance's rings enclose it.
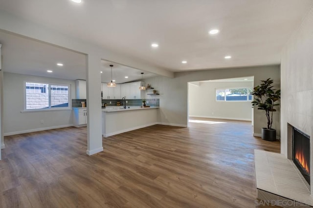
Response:
[[[51,95],[49,93],[49,108],[45,109],[26,109],[26,83],[45,83],[49,84],[49,90],[50,86],[52,85],[63,85],[68,86],[68,107],[58,107],[58,108],[52,108],[50,106],[51,104]],[[45,111],[60,111],[60,110],[71,110],[72,106],[72,99],[71,99],[71,84],[70,83],[50,83],[50,82],[40,82],[40,81],[24,81],[23,84],[23,92],[24,92],[24,110],[21,111],[21,113],[29,113],[29,112],[45,112]]]

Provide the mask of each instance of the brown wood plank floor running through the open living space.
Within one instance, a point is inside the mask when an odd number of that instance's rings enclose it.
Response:
[[[86,127],[7,136],[0,207],[255,207],[253,150],[280,143],[251,136],[250,122],[192,119],[103,138],[93,156]]]

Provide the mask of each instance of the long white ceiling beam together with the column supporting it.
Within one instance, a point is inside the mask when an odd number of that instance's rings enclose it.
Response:
[[[81,39],[69,37],[59,31],[49,29],[45,25],[39,25],[7,12],[0,12],[0,29],[15,33],[24,37],[29,37],[41,42],[46,42],[55,46],[61,46],[86,55],[86,78],[87,78],[87,154],[91,155],[103,149],[101,134],[101,98],[99,97],[101,88],[98,85],[98,73],[101,69],[101,59],[110,60],[137,69],[150,71],[159,75],[174,77],[174,73],[158,66],[153,66],[129,56],[114,53],[102,48],[99,45],[84,42]],[[8,69],[4,71],[10,72]],[[97,146],[97,147],[95,147]],[[92,149],[93,148],[93,149]]]

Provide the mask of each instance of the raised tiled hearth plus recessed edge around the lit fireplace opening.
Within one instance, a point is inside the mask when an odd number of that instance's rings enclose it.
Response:
[[[313,207],[313,186],[308,184],[292,161],[292,131],[293,126],[287,124],[287,158],[284,154],[255,150],[257,198],[274,203],[282,202],[287,206],[281,207],[287,208]],[[312,151],[311,139],[312,137]],[[311,170],[312,155],[311,152]],[[313,181],[313,174],[310,177]]]

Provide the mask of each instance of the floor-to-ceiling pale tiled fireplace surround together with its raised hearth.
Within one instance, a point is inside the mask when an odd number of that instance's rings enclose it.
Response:
[[[296,187],[301,183],[291,180],[289,174],[295,166],[292,159],[292,126],[303,131],[310,136],[310,149],[311,149],[311,172],[313,170],[313,82],[312,82],[312,69],[313,69],[313,6],[306,16],[302,19],[301,23],[295,28],[288,42],[286,42],[281,52],[281,153],[275,154],[266,151],[255,150],[259,155],[260,165],[272,171],[270,179],[277,179],[280,184],[274,186],[274,191],[278,189],[283,192],[289,191],[291,197],[297,195],[299,198],[306,198],[306,204],[313,205],[313,180],[311,174],[312,186],[305,189],[305,186],[295,190],[287,190],[289,187]],[[289,125],[290,124],[290,125]],[[291,126],[292,125],[292,126]],[[257,160],[257,154],[255,160]],[[262,157],[263,156],[263,157]],[[265,158],[266,157],[266,158]],[[257,161],[255,161],[257,162]],[[291,163],[292,162],[292,163]],[[263,163],[263,164],[262,164]],[[288,164],[289,163],[289,164]],[[257,169],[259,168],[259,169]],[[263,173],[268,173],[258,167],[260,171],[259,182],[257,184],[263,186],[268,184],[268,181],[262,181]],[[298,170],[300,174],[300,171]],[[280,175],[279,175],[280,174]],[[302,175],[301,175],[302,176]],[[301,182],[302,178],[300,176]],[[290,185],[284,185],[283,182],[289,181]],[[275,180],[272,180],[275,182]],[[305,181],[306,182],[306,181]],[[305,184],[305,182],[303,182]],[[275,184],[274,184],[275,185]],[[266,188],[266,186],[264,186]],[[261,189],[261,188],[260,188]],[[303,190],[301,192],[300,190]],[[268,197],[269,192],[264,191]],[[274,194],[271,194],[273,196]],[[258,195],[258,197],[261,197]],[[278,196],[276,195],[278,198]],[[264,197],[265,198],[265,197]],[[286,199],[286,198],[285,198]],[[291,198],[290,198],[291,199]],[[298,200],[299,201],[299,200]],[[302,206],[303,207],[303,206]]]

